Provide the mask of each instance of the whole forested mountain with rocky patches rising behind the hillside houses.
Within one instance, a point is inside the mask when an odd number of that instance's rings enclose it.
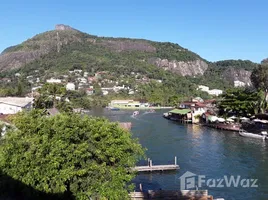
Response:
[[[145,91],[140,91],[140,98],[152,97],[157,91],[162,99],[171,101],[174,95],[204,95],[196,91],[199,84],[218,89],[233,87],[233,81],[239,78],[237,73],[241,70],[248,72],[255,65],[242,60],[211,63],[170,42],[97,37],[57,25],[53,31],[5,49],[0,55],[0,76],[14,79],[15,73],[26,77],[36,75],[38,71],[41,82],[44,82],[74,69],[89,72],[89,75],[108,71],[111,79],[120,79],[135,88],[136,79],[131,76],[134,73],[162,82],[140,87]],[[23,82],[22,77],[20,82]]]

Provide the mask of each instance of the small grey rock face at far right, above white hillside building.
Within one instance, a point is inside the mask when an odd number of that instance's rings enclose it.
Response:
[[[234,81],[241,81],[244,82],[246,85],[251,85],[250,76],[250,71],[244,69],[235,69],[233,67],[228,68],[223,72],[224,79],[230,82],[230,84],[233,84]]]

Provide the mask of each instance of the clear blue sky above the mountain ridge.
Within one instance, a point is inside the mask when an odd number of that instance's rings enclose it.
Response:
[[[66,24],[177,43],[208,61],[268,57],[267,0],[12,0],[0,7],[0,52]]]

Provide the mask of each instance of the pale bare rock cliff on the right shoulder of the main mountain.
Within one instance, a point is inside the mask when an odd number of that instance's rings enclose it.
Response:
[[[197,59],[194,61],[169,61],[167,59],[151,58],[149,63],[158,67],[162,67],[165,70],[173,71],[182,76],[195,76],[203,75],[208,68],[208,64],[203,60]]]

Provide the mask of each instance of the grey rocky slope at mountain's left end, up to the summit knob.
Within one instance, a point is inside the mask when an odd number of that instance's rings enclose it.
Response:
[[[54,31],[38,34],[33,38],[0,54],[0,71],[17,69],[51,51],[60,51],[70,42],[82,42],[79,32],[70,26],[56,25]]]

